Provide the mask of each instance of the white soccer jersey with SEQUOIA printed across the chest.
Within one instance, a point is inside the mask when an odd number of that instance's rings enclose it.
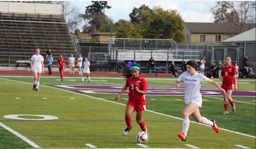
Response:
[[[179,76],[177,81],[179,83],[182,82],[184,85],[186,104],[189,104],[189,102],[193,100],[193,103],[195,103],[199,107],[202,107],[202,96],[200,94],[200,87],[202,86],[202,83],[205,83],[208,80],[209,78],[197,72],[193,76],[191,76],[188,72],[185,72]]]

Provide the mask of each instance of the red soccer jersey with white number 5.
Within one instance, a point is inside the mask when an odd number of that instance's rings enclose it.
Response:
[[[221,76],[223,76],[222,83],[233,83],[235,84],[234,75],[237,74],[236,66],[223,66],[221,69]]]

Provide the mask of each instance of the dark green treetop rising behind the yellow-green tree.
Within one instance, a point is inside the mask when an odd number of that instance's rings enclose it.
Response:
[[[140,8],[134,7],[132,10],[132,13],[129,14],[129,17],[131,18],[130,21],[132,23],[136,22],[136,23],[140,24],[141,23],[140,14],[144,10],[150,11],[151,9],[148,6],[145,6],[145,4],[141,5]]]

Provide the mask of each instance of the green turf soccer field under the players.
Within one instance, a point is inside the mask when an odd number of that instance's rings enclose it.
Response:
[[[175,81],[175,79],[145,78],[148,86],[173,86]],[[90,83],[86,81],[86,78],[84,83],[80,83],[81,78],[78,77],[64,78],[63,82],[59,80],[59,76],[42,77],[40,79],[41,86],[39,86],[38,92],[35,92],[32,89],[32,77],[0,77],[0,122],[41,148],[90,148],[85,144],[91,144],[97,148],[142,148],[136,145],[138,143],[135,139],[136,134],[141,129],[135,121],[135,113],[132,114],[133,129],[126,136],[122,134],[126,128],[124,110],[127,95],[122,95],[120,99],[115,100],[116,95],[114,94],[76,93],[73,90],[78,89],[50,86],[115,85],[122,87],[125,85],[124,79],[91,77]],[[216,82],[221,84],[220,80],[216,80]],[[203,85],[202,87],[213,87],[210,83]],[[183,85],[180,84],[180,86]],[[238,80],[238,89],[255,91],[255,80]],[[200,113],[210,120],[215,119],[221,128],[220,133],[217,134],[211,127],[191,122],[184,142],[177,137],[178,133],[182,131],[184,96],[147,95],[148,111],[145,111],[143,119],[148,129],[149,141],[144,145],[150,148],[191,148],[184,144],[198,148],[241,149],[235,145],[255,148],[255,97],[232,98],[236,100],[234,101],[236,112],[232,113],[229,105],[231,112],[229,115],[223,115],[222,97],[203,97]],[[58,117],[58,119],[18,120],[3,117],[6,115],[50,115]],[[19,116],[19,118],[38,119],[43,117]],[[192,117],[190,120],[194,121]],[[0,148],[34,147],[12,132],[0,127]]]

